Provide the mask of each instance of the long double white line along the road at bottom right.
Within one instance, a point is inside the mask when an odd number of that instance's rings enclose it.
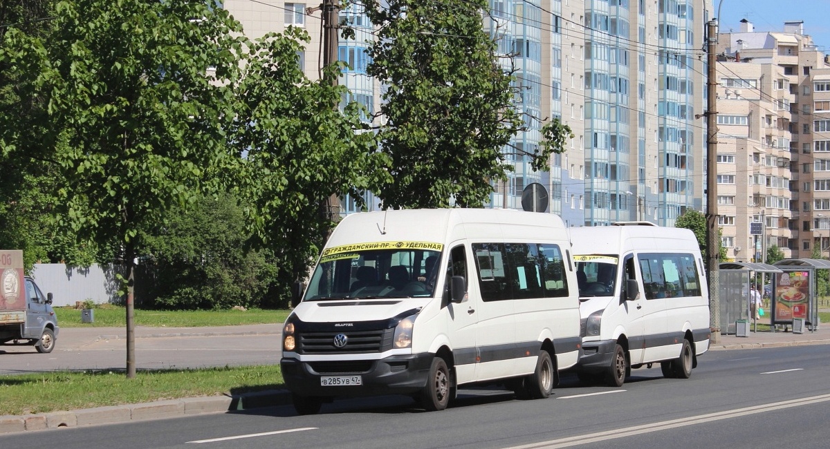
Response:
[[[706,413],[704,415],[693,416],[689,418],[677,418],[669,421],[652,422],[648,424],[641,424],[639,426],[623,427],[620,429],[608,430],[603,432],[587,433],[584,435],[577,435],[575,437],[565,437],[556,440],[549,440],[546,442],[536,442],[525,444],[522,446],[513,446],[506,449],[557,449],[559,447],[573,447],[589,442],[603,442],[622,437],[633,437],[641,433],[658,432],[668,430],[676,427],[686,427],[695,424],[702,424],[704,422],[718,421],[727,418],[739,418],[741,416],[752,415],[755,413],[766,413],[774,410],[784,408],[799,407],[802,405],[810,405],[813,403],[823,403],[830,401],[830,394],[821,394],[818,396],[811,396],[809,398],[790,399],[779,403],[768,403],[764,405],[755,405],[752,407],[736,408],[735,410],[725,410],[717,413]]]

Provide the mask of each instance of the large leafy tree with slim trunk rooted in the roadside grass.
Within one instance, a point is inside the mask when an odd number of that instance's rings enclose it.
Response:
[[[223,121],[235,113],[244,41],[220,6],[66,0],[49,36],[12,29],[3,42],[0,60],[34,80],[29,94],[47,105],[40,142],[66,181],[58,224],[124,263],[129,378],[140,231],[217,191],[212,180],[231,159]]]

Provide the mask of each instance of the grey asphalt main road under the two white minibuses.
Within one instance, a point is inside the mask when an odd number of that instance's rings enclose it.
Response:
[[[0,447],[821,447],[830,437],[828,360],[830,345],[710,351],[691,379],[637,369],[612,389],[566,376],[544,400],[462,389],[451,408],[424,413],[398,396],[344,399],[314,416],[258,408],[10,434]]]

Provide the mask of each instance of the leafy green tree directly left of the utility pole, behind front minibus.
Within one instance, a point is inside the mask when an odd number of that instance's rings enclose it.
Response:
[[[256,236],[275,251],[281,273],[304,278],[320,253],[331,221],[320,203],[334,194],[361,198],[388,180],[388,159],[361,122],[356,103],[334,108],[344,86],[311,81],[297,64],[309,36],[289,27],[251,44],[242,82],[233,142],[242,167],[238,188],[251,207]],[[336,66],[326,68],[336,77]]]

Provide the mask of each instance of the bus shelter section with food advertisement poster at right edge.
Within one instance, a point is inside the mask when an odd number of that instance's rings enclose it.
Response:
[[[830,269],[823,258],[787,258],[775,263],[770,324],[793,326],[793,332],[818,329],[818,270]]]

